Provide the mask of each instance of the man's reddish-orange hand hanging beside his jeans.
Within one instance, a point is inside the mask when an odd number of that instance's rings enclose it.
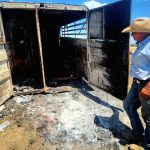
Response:
[[[150,98],[150,81],[141,89],[140,96],[143,99]]]

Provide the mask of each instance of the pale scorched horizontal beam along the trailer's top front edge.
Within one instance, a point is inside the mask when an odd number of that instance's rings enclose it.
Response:
[[[54,4],[54,3],[28,3],[28,2],[0,2],[1,8],[6,9],[49,9],[49,10],[74,10],[87,11],[83,5]]]

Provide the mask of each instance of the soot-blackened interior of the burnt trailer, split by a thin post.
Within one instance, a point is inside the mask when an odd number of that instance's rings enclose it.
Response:
[[[86,11],[40,10],[38,12],[44,76],[52,81],[87,78],[86,39],[61,36],[61,28],[86,18]],[[43,88],[34,10],[2,11],[12,82]]]

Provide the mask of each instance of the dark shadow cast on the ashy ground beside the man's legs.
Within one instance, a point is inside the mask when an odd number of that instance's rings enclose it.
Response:
[[[109,103],[101,100],[97,96],[92,95],[86,90],[81,90],[80,92],[84,96],[95,101],[96,103],[112,109],[113,114],[111,117],[95,115],[94,123],[97,126],[110,130],[113,133],[113,136],[118,138],[119,143],[122,145],[132,143],[134,138],[131,136],[131,129],[127,125],[125,125],[121,120],[119,120],[119,111],[123,112],[122,109],[110,105]]]

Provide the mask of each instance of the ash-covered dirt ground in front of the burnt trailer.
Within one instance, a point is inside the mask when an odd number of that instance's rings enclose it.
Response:
[[[1,150],[122,150],[131,143],[122,101],[96,87],[17,96],[2,107]]]

